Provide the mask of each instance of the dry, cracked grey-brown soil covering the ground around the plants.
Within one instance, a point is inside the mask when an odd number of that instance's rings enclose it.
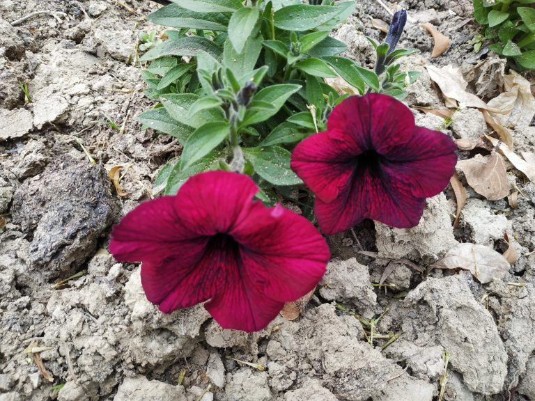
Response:
[[[473,109],[450,127],[417,109],[444,107],[429,63],[460,66],[474,93],[497,95],[504,63],[472,52],[472,1],[398,6],[411,16],[401,46],[420,50],[402,60],[421,72],[405,100],[417,123],[479,137]],[[535,184],[519,174],[518,208],[467,188],[455,230],[448,189],[428,199],[416,228],[364,221],[329,238],[338,258],[293,322],[243,333],[203,306],[164,315],[147,301],[139,267],[106,248],[111,224],[153,195],[158,168],[181,150],[136,120],[151,107],[136,49],[140,31],[160,29],[145,18],[156,7],[0,0],[0,400],[431,401],[441,386],[446,401],[535,398]],[[10,25],[36,10],[50,13]],[[377,1],[359,1],[336,32],[368,66],[366,36],[384,37],[371,17],[390,19]],[[451,38],[439,58],[421,22]],[[532,131],[514,134],[533,151]],[[108,178],[118,166],[121,196]],[[503,281],[429,268],[458,242],[503,252],[505,233],[520,258]]]

